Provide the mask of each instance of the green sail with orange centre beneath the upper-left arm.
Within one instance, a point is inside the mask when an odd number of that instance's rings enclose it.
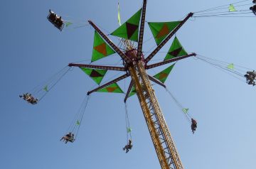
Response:
[[[107,45],[102,37],[100,37],[99,33],[95,31],[92,50],[92,62],[100,60],[101,58],[105,58],[106,56],[112,55],[113,53],[115,52],[112,50],[112,48],[110,48],[110,45]]]

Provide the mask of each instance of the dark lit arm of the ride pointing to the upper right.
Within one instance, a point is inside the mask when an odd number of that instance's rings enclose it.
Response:
[[[186,16],[186,18],[183,19],[183,21],[181,21],[181,23],[178,24],[178,26],[176,26],[176,28],[174,28],[173,31],[171,31],[171,33],[169,34],[169,36],[167,36],[157,47],[156,49],[146,58],[146,63],[149,62],[149,60],[151,60],[151,58],[154,57],[154,55],[156,55],[156,53],[159,52],[159,50],[161,48],[163,48],[163,46],[170,40],[170,38],[172,36],[174,36],[174,34],[178,31],[179,28],[181,28],[181,26],[183,26],[183,24],[188,21],[188,18],[190,18],[191,16],[193,16],[193,13],[188,13],[188,16]]]

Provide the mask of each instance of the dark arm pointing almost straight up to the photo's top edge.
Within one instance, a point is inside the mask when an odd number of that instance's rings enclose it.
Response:
[[[141,23],[139,28],[137,60],[140,60],[142,58],[142,43],[143,43],[143,35],[144,35],[145,16],[146,16],[146,0],[143,1],[143,7],[142,7],[142,18],[141,18]]]

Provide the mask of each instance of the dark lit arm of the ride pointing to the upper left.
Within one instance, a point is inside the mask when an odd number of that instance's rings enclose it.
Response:
[[[93,28],[95,28],[95,31],[97,31],[97,33],[99,33],[100,36],[102,36],[102,38],[106,40],[106,42],[114,49],[114,51],[116,51],[116,53],[124,60],[124,62],[126,62],[128,65],[132,63],[132,60],[130,60],[127,57],[127,55],[125,55],[121,50],[119,50],[119,48],[116,45],[114,45],[114,43],[112,43],[112,41],[109,38],[107,38],[107,36],[104,33],[102,33],[102,31],[100,31],[100,28],[95,26],[95,24],[92,23],[92,21],[88,22]]]

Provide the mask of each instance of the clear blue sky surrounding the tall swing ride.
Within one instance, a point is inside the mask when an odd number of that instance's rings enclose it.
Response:
[[[191,11],[233,2],[149,0],[146,21],[178,21]],[[122,22],[142,6],[142,0],[119,3]],[[64,19],[85,23],[92,20],[105,33],[118,27],[117,0],[1,1],[1,168],[160,168],[136,96],[128,100],[134,148],[127,154],[122,151],[126,143],[124,94],[92,94],[77,141],[59,141],[87,91],[96,87],[78,68],[68,72],[37,105],[18,97],[69,62],[91,58],[93,28],[60,32],[46,19],[48,9]],[[176,36],[189,53],[256,69],[255,27],[256,16],[196,18],[185,23]],[[152,37],[148,26],[144,37]],[[117,38],[110,38],[117,42]],[[161,51],[168,50],[170,45],[171,41]],[[153,39],[143,49],[148,51],[152,46]],[[159,53],[154,59],[164,56],[165,53]],[[119,60],[115,55],[97,63]],[[103,82],[116,75],[110,72]],[[127,89],[128,82],[126,86],[120,83],[122,89]],[[184,168],[255,168],[255,87],[193,58],[179,61],[166,85],[198,121],[193,135],[169,94],[154,85]]]

